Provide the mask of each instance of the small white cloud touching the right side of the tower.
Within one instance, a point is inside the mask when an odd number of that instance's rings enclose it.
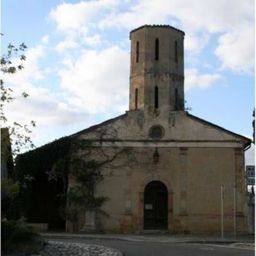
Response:
[[[185,69],[185,91],[194,87],[206,88],[222,79],[220,74],[200,75],[196,68],[187,68]]]

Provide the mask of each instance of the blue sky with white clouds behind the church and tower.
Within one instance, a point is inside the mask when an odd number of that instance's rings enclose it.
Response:
[[[254,1],[13,0],[2,1],[1,17],[2,53],[28,46],[25,69],[4,80],[30,97],[5,111],[10,122],[36,121],[36,146],[128,110],[129,32],[144,24],[185,32],[190,113],[252,136]]]

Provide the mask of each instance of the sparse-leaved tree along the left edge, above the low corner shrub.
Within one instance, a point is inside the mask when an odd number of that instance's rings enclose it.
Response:
[[[22,62],[26,60],[26,56],[23,54],[27,49],[27,46],[22,43],[19,47],[15,47],[12,44],[8,45],[8,51],[1,56],[1,72],[3,74],[15,74],[24,68]],[[21,63],[17,66],[13,65],[12,58],[19,57]],[[4,106],[6,103],[11,103],[15,100],[12,96],[12,89],[4,86],[4,80],[1,79],[1,126],[8,120],[4,113]],[[28,94],[22,92],[21,97],[27,98]],[[31,121],[32,126],[35,126],[35,121]],[[19,219],[21,215],[20,193],[26,189],[29,181],[33,180],[33,177],[27,175],[22,178],[22,181],[17,181],[14,174],[10,172],[13,169],[13,156],[16,156],[21,148],[34,148],[28,129],[28,125],[21,125],[14,122],[8,127],[1,128],[1,162],[6,164],[8,175],[1,179],[1,210],[2,218],[7,219]],[[2,166],[1,166],[2,168]],[[2,172],[3,170],[1,170]]]

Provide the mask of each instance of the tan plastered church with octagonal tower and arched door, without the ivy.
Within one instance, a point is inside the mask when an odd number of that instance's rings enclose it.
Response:
[[[79,231],[217,233],[223,186],[224,231],[247,232],[251,140],[184,110],[184,36],[169,25],[132,30],[129,110],[70,136],[93,141],[92,159],[111,158],[94,189],[108,199],[79,217]],[[74,185],[70,178],[68,189]]]

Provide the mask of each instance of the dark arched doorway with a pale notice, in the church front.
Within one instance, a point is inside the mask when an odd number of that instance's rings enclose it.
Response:
[[[161,181],[151,181],[144,190],[144,229],[168,229],[168,192]]]

